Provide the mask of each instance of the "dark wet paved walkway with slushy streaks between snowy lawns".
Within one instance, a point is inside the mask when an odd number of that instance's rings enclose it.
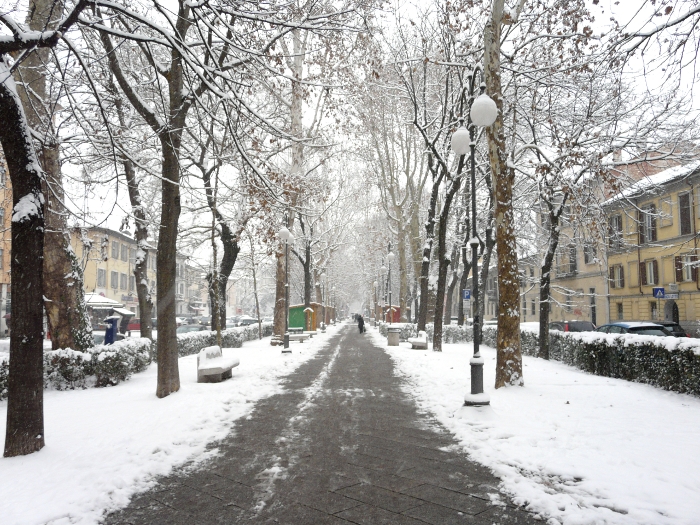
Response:
[[[159,480],[104,523],[541,523],[490,503],[498,479],[444,450],[453,437],[417,411],[389,356],[356,328],[284,386],[236,422],[220,456]]]

